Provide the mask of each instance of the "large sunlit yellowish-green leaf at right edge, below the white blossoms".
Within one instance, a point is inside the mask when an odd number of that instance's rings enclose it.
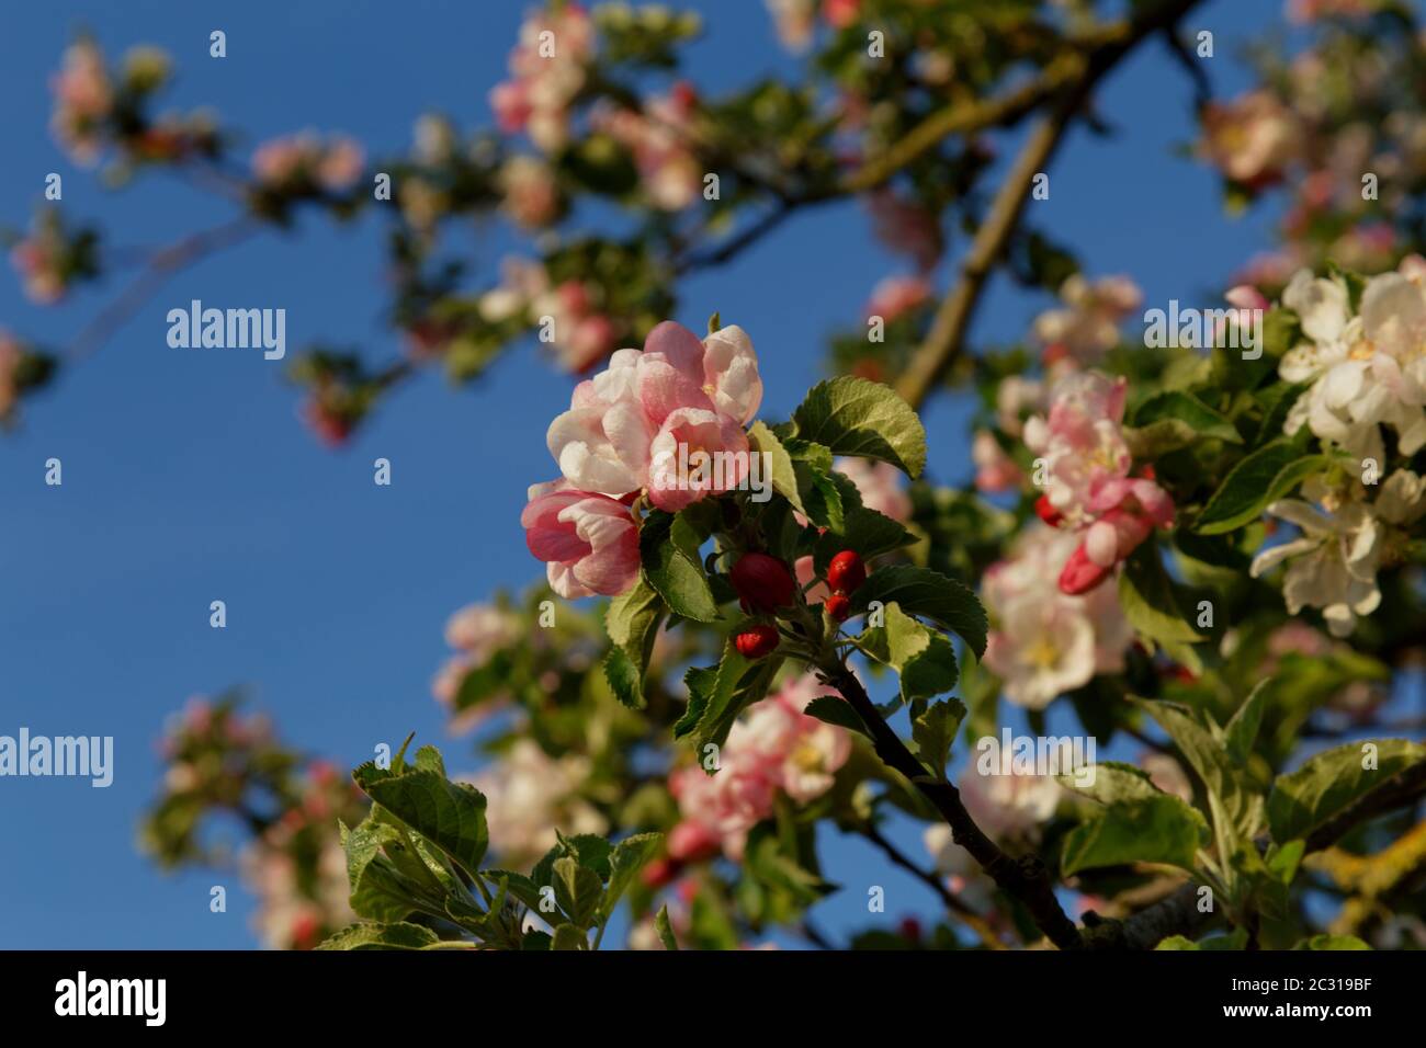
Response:
[[[1268,796],[1268,826],[1275,841],[1308,837],[1402,771],[1426,761],[1426,746],[1406,739],[1372,740],[1376,767],[1362,767],[1363,747],[1346,743],[1310,757],[1301,769],[1278,776]]]

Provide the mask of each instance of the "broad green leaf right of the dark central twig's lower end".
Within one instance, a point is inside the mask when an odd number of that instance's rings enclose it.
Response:
[[[1166,793],[1109,804],[1065,836],[1060,867],[1079,870],[1128,863],[1168,863],[1194,868],[1208,843],[1208,823],[1196,810]]]

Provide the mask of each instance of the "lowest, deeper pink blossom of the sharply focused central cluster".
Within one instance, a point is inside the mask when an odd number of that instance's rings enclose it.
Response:
[[[548,562],[562,597],[619,596],[639,577],[639,528],[629,508],[607,495],[556,481],[530,488],[520,513],[525,542]]]

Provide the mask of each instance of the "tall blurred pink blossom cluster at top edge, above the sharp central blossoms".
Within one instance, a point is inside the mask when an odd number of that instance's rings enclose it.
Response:
[[[595,24],[576,3],[535,11],[511,51],[511,78],[491,91],[502,131],[525,131],[543,153],[569,141],[569,110],[585,87],[595,54]]]

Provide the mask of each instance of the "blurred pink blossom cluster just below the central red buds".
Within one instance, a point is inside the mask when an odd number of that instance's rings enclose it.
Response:
[[[779,796],[807,804],[831,788],[851,740],[846,729],[803,713],[824,694],[837,692],[810,673],[787,680],[733,724],[716,774],[686,766],[669,776],[680,818],[669,831],[669,863],[649,867],[649,878],[663,883],[719,853],[740,861],[749,830],[773,814]]]

